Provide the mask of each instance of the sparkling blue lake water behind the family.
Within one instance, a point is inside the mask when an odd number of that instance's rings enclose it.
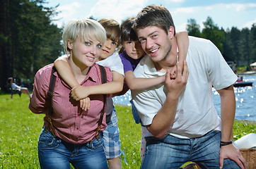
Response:
[[[236,102],[235,119],[256,121],[256,75],[243,75],[243,80],[253,83],[251,87],[234,87]],[[221,99],[214,88],[212,89],[212,96],[216,111],[220,115]],[[129,103],[131,99],[131,92],[128,91],[122,96],[115,96],[113,101],[115,104],[131,106]]]

